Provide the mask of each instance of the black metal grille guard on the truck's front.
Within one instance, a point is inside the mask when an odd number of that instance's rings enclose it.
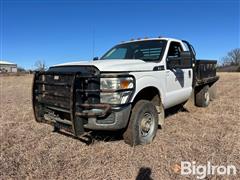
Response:
[[[86,118],[104,117],[113,107],[121,106],[100,103],[100,93],[114,93],[123,90],[100,90],[100,78],[132,77],[129,74],[101,75],[94,67],[88,73],[82,72],[35,72],[32,102],[37,122],[47,123],[79,136],[84,132]],[[85,69],[86,70],[86,69]],[[133,95],[134,88],[125,89]],[[68,119],[46,114],[54,110],[69,115]],[[97,111],[94,111],[97,110]]]

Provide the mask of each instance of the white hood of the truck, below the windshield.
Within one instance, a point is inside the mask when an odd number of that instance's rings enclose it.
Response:
[[[69,62],[64,64],[58,64],[58,66],[81,66],[81,65],[92,65],[97,67],[100,71],[151,71],[156,66],[154,62],[145,62],[140,59],[108,59],[108,60],[97,60],[97,61],[78,61]]]

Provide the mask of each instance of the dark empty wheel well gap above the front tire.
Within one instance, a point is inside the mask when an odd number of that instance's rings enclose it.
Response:
[[[156,87],[150,86],[138,92],[138,94],[133,100],[133,106],[139,100],[148,100],[151,101],[155,106],[159,106],[161,102],[161,96],[159,90]]]

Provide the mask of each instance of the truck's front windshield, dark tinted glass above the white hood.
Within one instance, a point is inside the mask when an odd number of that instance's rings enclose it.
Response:
[[[110,49],[101,59],[141,59],[144,61],[159,61],[165,46],[165,40],[147,40],[120,44]]]

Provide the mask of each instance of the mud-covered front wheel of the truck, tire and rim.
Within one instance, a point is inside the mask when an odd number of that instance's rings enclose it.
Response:
[[[124,141],[131,145],[149,144],[156,136],[158,129],[158,112],[156,107],[147,100],[138,101],[131,112]]]

